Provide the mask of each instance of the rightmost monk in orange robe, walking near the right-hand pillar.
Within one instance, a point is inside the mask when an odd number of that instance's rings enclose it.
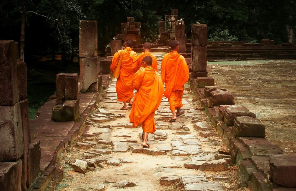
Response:
[[[164,95],[170,103],[170,110],[173,114],[169,122],[176,120],[176,117],[184,114],[182,104],[182,96],[184,84],[189,78],[189,69],[184,57],[178,54],[179,42],[171,41],[170,47],[172,51],[165,54],[161,62],[161,80],[165,83]],[[175,113],[175,110],[177,112]]]

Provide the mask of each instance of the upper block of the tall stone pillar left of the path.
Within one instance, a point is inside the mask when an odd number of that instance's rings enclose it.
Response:
[[[96,21],[79,21],[79,56],[96,57],[98,54]]]

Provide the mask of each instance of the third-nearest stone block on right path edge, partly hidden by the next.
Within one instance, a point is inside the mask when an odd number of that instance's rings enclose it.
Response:
[[[228,99],[230,100],[230,98],[231,96],[229,96]],[[233,126],[234,118],[240,117],[240,116],[249,116],[249,117],[256,118],[256,114],[250,112],[245,106],[228,106],[225,108],[223,119],[226,125]]]

